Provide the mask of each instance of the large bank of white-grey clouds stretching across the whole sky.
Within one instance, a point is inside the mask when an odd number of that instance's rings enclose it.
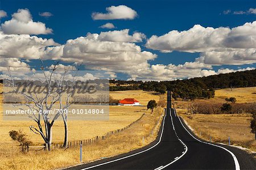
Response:
[[[26,14],[26,15],[25,15]],[[27,16],[30,13],[24,13]],[[13,15],[13,18],[27,22],[30,17]],[[142,42],[146,36],[141,32],[129,34],[129,29],[90,34],[70,39],[58,44],[53,39],[38,36],[5,34],[0,31],[0,61],[15,63],[16,69],[27,69],[29,65],[23,60],[43,59],[62,60],[64,62],[83,63],[86,68],[102,70],[110,78],[116,73],[128,74],[135,80],[175,80],[209,76],[242,69],[219,69],[214,71],[212,65],[256,63],[256,22],[245,23],[234,28],[212,28],[195,25],[187,31],[170,31],[162,36],[152,36],[146,47],[163,52],[187,51],[199,52],[200,56],[193,62],[184,64],[155,64],[157,55],[143,51],[135,43]],[[19,57],[19,59],[18,59]],[[7,64],[0,65],[0,69]],[[68,65],[70,66],[70,65]],[[58,65],[64,69],[64,64]],[[48,68],[52,68],[52,65]],[[253,68],[246,68],[253,69]],[[80,77],[95,78],[97,75]]]

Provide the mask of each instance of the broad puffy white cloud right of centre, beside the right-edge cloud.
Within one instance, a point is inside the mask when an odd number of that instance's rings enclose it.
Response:
[[[195,25],[187,31],[170,31],[162,36],[151,36],[146,47],[163,52],[202,52],[222,47],[222,42],[230,32],[229,28],[212,28]]]

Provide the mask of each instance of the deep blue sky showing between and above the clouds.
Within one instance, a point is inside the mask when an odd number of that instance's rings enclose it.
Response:
[[[28,9],[34,22],[42,22],[46,27],[52,28],[53,34],[38,34],[40,38],[52,38],[56,43],[65,44],[69,39],[86,36],[88,32],[100,34],[105,31],[129,29],[129,34],[141,32],[147,39],[152,35],[162,36],[172,30],[186,31],[195,24],[203,27],[238,27],[256,20],[256,14],[247,13],[249,9],[256,8],[256,1],[1,1],[1,10],[6,11],[7,16],[1,18],[1,23],[11,20],[11,14],[18,9]],[[106,13],[106,7],[125,5],[137,12],[134,19],[109,19],[93,20],[92,13]],[[228,14],[224,11],[230,10]],[[52,16],[42,17],[39,13],[49,12]],[[235,11],[245,11],[245,14],[236,15]],[[113,23],[114,29],[100,28],[105,23]],[[31,34],[32,36],[32,34]],[[147,39],[136,42],[142,51],[148,51],[158,55],[154,60],[148,60],[150,65],[156,64],[184,64],[193,62],[200,57],[201,52],[172,51],[163,53],[158,49],[146,47]],[[26,58],[20,58],[26,63]],[[86,58],[84,59],[86,60]],[[46,63],[51,61],[46,60]],[[38,59],[27,62],[31,68],[38,69]],[[71,61],[63,61],[64,65],[72,64]],[[87,63],[89,64],[89,63]],[[124,63],[125,64],[125,63]],[[85,64],[86,65],[86,64]],[[85,66],[86,67],[86,66]],[[218,64],[212,65],[213,71],[218,69],[240,69],[256,67],[254,61],[247,64]],[[207,68],[209,69],[209,68]],[[113,71],[113,70],[112,70]],[[128,72],[115,72],[116,78],[131,78]],[[147,75],[148,76],[148,75]],[[135,76],[136,77],[136,76]],[[181,76],[182,77],[182,76]],[[171,77],[172,79],[180,77]],[[171,80],[170,78],[170,80]],[[186,77],[184,77],[186,78]],[[139,79],[139,78],[138,78]],[[143,79],[143,78],[141,78]],[[146,78],[150,79],[150,78]]]

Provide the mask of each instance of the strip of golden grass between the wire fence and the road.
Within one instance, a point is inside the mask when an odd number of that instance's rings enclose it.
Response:
[[[89,162],[102,157],[119,155],[146,146],[151,143],[159,131],[159,117],[162,109],[155,109],[153,114],[146,115],[133,126],[106,140],[83,146],[83,162]],[[153,130],[153,135],[151,131]],[[144,139],[144,140],[143,140]],[[51,152],[38,151],[21,154],[14,147],[5,148],[1,152],[0,169],[53,169],[79,164],[79,147]]]

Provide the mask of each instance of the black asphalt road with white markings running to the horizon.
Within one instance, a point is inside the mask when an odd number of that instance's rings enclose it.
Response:
[[[230,149],[197,139],[176,115],[175,109],[171,109],[168,92],[166,115],[155,142],[127,154],[69,169],[255,169],[251,156]],[[238,160],[234,153],[241,159]]]

